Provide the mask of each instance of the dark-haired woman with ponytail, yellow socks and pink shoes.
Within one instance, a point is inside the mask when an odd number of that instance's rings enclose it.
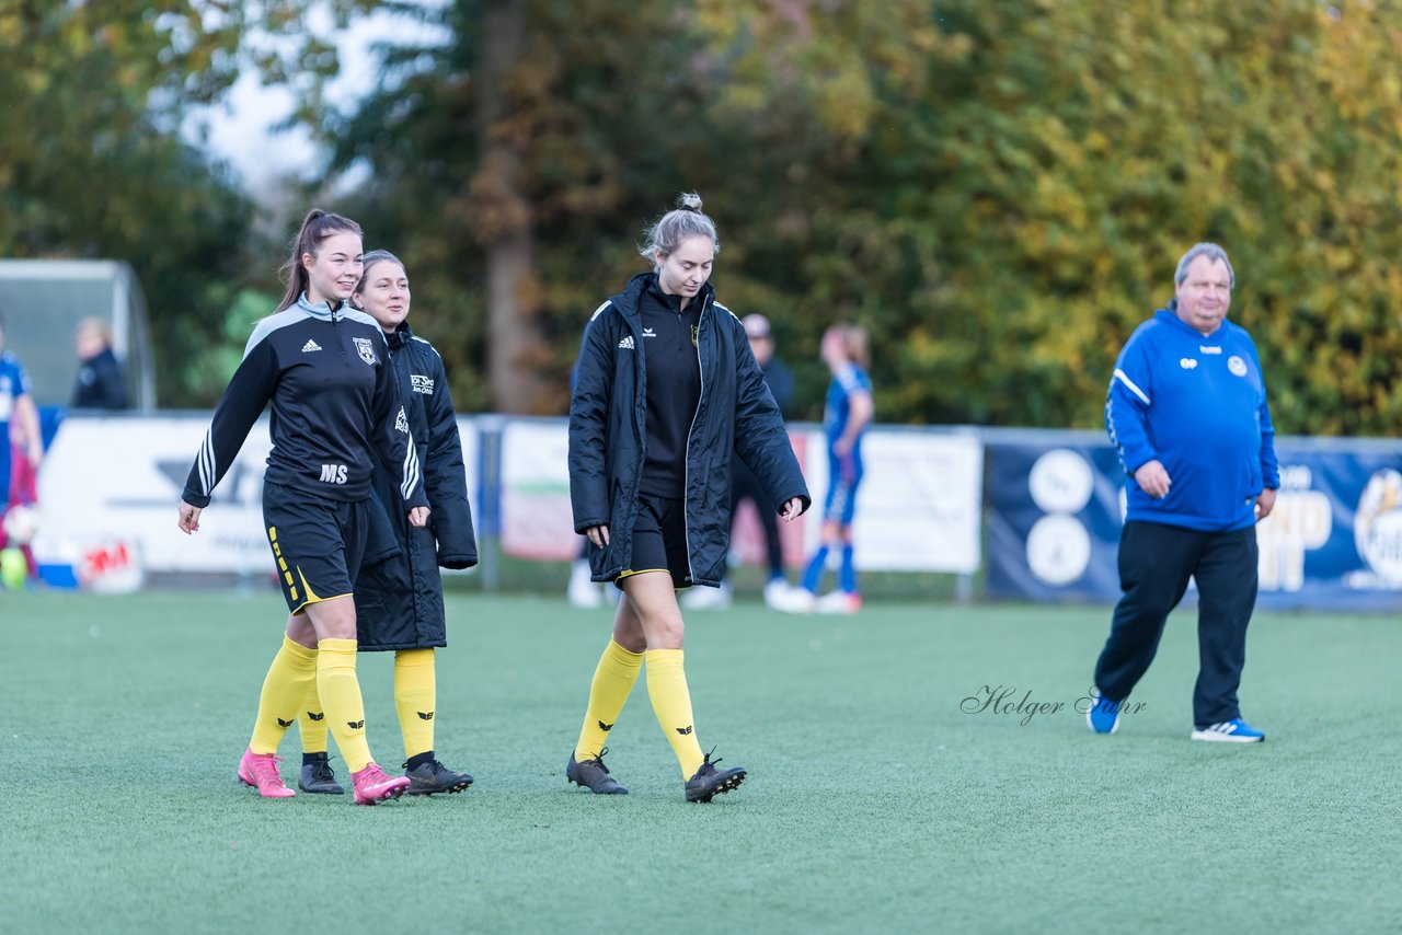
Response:
[[[315,684],[350,768],[355,803],[374,805],[409,786],[405,777],[386,775],[370,756],[355,670],[353,582],[377,517],[370,499],[374,461],[398,465],[409,524],[428,521],[428,498],[384,334],[349,304],[362,273],[360,227],[310,212],[286,269],[287,290],[254,328],[189,471],[179,528],[186,535],[199,530],[215,486],[271,402],[264,527],[290,614],[238,779],[264,798],[296,795],[283,785],[276,751]],[[383,516],[379,520],[383,527]]]

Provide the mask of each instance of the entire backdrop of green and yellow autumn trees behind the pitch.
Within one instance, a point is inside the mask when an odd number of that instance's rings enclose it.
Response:
[[[502,42],[484,8],[513,4],[522,53],[488,132],[515,143],[520,199],[478,135],[478,52]],[[774,321],[809,418],[817,338],[852,320],[883,421],[1098,426],[1115,355],[1200,240],[1237,265],[1232,317],[1281,430],[1402,416],[1394,0],[400,0],[381,6],[447,38],[387,31],[380,91],[349,115],[325,107],[336,62],[310,6],[0,0],[0,252],[130,259],[163,398],[212,401],[209,374],[172,362],[268,287],[251,206],[175,133],[255,67],[297,94],[332,172],[363,179],[335,207],[404,257],[464,409],[503,404],[484,247],[531,233],[519,306],[538,341],[510,366],[564,411],[587,315],[695,189],[721,224],[719,294]]]

